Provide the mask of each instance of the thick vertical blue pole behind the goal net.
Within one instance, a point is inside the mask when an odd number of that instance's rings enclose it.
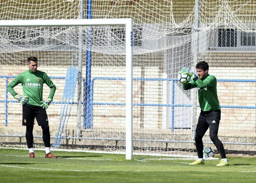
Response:
[[[92,0],[87,0],[86,5],[86,19],[92,19]],[[91,29],[88,29],[87,33],[87,48],[90,48],[90,33]],[[90,96],[91,96],[91,73],[92,73],[92,52],[90,50],[86,51],[86,93],[85,93],[85,101],[86,101],[86,129],[90,128]]]

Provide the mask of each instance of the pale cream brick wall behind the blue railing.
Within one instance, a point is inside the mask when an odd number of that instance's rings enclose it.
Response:
[[[231,66],[213,66],[211,62],[209,73],[216,76],[217,79],[255,79],[256,67],[231,67]],[[5,65],[1,70],[1,75],[25,71],[27,66],[13,67]],[[85,69],[85,66],[84,66]],[[67,66],[40,66],[38,70],[47,72],[49,76],[65,76]],[[243,72],[246,71],[246,75]],[[158,67],[144,67],[143,77],[157,78],[162,71]],[[141,76],[141,68],[134,67],[134,77]],[[97,66],[92,67],[92,78],[94,77],[125,77],[125,68],[116,66]],[[85,70],[84,70],[85,77]],[[12,79],[9,79],[9,83]],[[52,79],[57,87],[54,100],[61,101],[64,89],[64,80]],[[5,99],[5,79],[0,79],[0,98]],[[161,104],[163,91],[161,82],[141,82],[134,81],[133,97],[134,103],[150,103]],[[256,106],[256,83],[234,83],[234,82],[218,82],[218,96],[220,105],[227,106]],[[76,89],[77,90],[77,89]],[[21,85],[15,87],[17,93],[22,93]],[[44,86],[44,99],[47,99],[49,88]],[[9,100],[15,100],[8,93]],[[74,101],[77,101],[77,92]],[[124,81],[105,81],[95,80],[93,102],[113,102],[125,103],[125,82]],[[1,105],[1,127],[4,124],[5,106]],[[8,104],[8,124],[15,123],[20,126],[21,121],[21,105],[19,103]],[[51,104],[48,111],[50,124],[59,125],[61,104]],[[124,128],[125,124],[125,106],[109,106],[94,105],[93,106],[93,127],[97,128]],[[198,109],[197,111],[200,111]],[[197,116],[199,113],[197,113]],[[134,106],[133,111],[134,126],[138,128],[161,128],[162,125],[162,107],[153,106]],[[76,128],[77,106],[72,106],[69,126]],[[255,133],[256,131],[256,112],[255,109],[234,109],[222,108],[222,123],[220,125],[220,133],[236,133],[237,131],[245,133]]]

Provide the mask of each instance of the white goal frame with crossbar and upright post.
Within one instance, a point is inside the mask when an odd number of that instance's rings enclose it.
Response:
[[[36,26],[125,26],[126,64],[126,159],[132,159],[132,18],[113,19],[52,19],[52,20],[0,20],[0,27]],[[79,121],[78,121],[79,122]]]

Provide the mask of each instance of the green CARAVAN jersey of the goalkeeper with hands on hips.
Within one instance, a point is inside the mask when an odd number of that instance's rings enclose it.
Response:
[[[7,87],[7,90],[12,94],[13,97],[17,95],[13,88],[20,83],[22,85],[23,96],[28,96],[28,104],[34,106],[40,106],[40,101],[43,101],[44,83],[51,88],[48,98],[53,99],[56,91],[56,86],[52,83],[51,79],[45,72],[40,70],[36,70],[36,72],[27,70],[15,77],[15,79]]]

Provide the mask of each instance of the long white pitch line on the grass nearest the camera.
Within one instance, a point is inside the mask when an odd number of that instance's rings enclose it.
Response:
[[[10,166],[10,165],[0,165],[2,167],[9,168],[24,168],[24,169],[36,169],[36,170],[50,170],[50,171],[68,171],[68,172],[182,172],[181,170],[161,170],[161,171],[145,171],[145,170],[132,170],[132,171],[120,171],[120,170],[63,170],[63,169],[51,169],[51,168],[32,168],[32,167],[24,167],[24,166]],[[196,172],[230,172],[230,171],[196,171]],[[236,171],[243,173],[254,173],[256,171]]]

